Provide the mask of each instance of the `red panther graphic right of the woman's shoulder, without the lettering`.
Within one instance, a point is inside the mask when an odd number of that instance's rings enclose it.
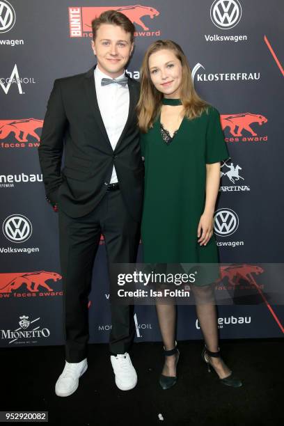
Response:
[[[222,129],[225,130],[226,127],[229,127],[232,136],[243,136],[242,132],[244,132],[244,130],[249,132],[252,136],[257,136],[251,128],[253,123],[258,123],[258,125],[262,126],[262,124],[267,123],[267,118],[252,113],[221,115]]]

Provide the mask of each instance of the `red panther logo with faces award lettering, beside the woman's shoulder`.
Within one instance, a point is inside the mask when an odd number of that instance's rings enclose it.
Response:
[[[242,142],[267,141],[267,136],[258,136],[251,128],[254,123],[262,126],[262,124],[267,123],[267,118],[260,116],[260,114],[252,113],[221,115],[222,129],[229,128],[230,135],[234,136],[226,138],[226,142],[239,142],[239,140]],[[251,136],[244,136],[244,131]]]

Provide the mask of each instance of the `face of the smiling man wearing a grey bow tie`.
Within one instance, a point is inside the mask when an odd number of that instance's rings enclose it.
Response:
[[[102,24],[97,30],[95,41],[92,41],[97,67],[112,79],[123,74],[132,54],[134,44],[130,36],[120,26]]]

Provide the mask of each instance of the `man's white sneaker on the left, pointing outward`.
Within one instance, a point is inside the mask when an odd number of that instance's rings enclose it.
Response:
[[[68,363],[65,361],[65,367],[61,375],[58,377],[55,385],[55,393],[57,396],[69,396],[77,390],[79,385],[79,377],[87,370],[87,358],[79,363]]]

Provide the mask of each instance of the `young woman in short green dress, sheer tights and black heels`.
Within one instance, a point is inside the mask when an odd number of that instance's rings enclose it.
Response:
[[[171,40],[150,45],[141,67],[138,104],[145,195],[141,227],[145,263],[218,263],[213,215],[220,161],[229,157],[219,112],[198,97],[187,58]],[[214,285],[192,285],[205,340],[202,358],[222,384],[239,387],[219,351]],[[177,381],[176,306],[156,303],[165,362],[159,383]]]

